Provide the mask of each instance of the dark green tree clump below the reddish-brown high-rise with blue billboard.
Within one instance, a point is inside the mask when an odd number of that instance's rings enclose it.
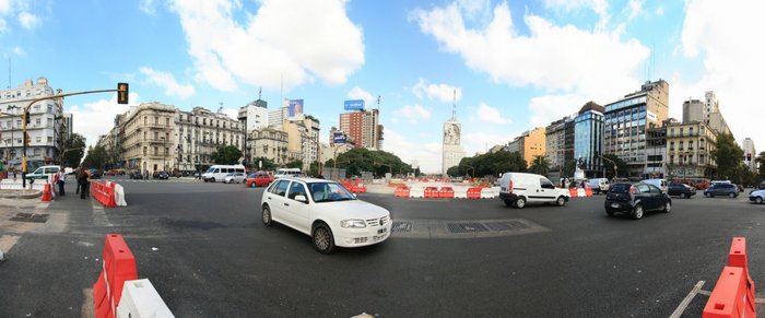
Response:
[[[331,160],[328,161],[331,167]],[[338,168],[345,168],[346,175],[361,175],[361,172],[372,172],[381,177],[386,173],[407,175],[412,173],[412,166],[405,164],[397,155],[377,150],[354,148],[338,155]]]

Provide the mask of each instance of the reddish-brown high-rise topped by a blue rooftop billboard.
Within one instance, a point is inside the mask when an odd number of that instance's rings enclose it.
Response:
[[[379,125],[379,109],[340,114],[340,130],[350,137],[355,148],[381,149],[382,125]]]

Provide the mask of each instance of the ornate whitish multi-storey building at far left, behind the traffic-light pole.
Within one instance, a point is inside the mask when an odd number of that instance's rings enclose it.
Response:
[[[23,109],[33,99],[54,95],[54,89],[48,85],[46,78],[39,78],[37,82],[26,80],[15,89],[0,90],[0,113],[3,114],[0,115],[0,158],[5,160],[9,166],[21,168],[24,145]],[[30,107],[30,123],[26,125],[30,137],[26,148],[26,160],[30,164],[27,170],[37,165],[59,162],[62,134],[67,130],[62,118],[62,99],[45,99]]]

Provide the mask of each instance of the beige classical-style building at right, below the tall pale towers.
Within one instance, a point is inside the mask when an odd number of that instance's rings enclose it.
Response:
[[[709,177],[717,164],[717,132],[704,122],[667,126],[667,170],[671,178]]]

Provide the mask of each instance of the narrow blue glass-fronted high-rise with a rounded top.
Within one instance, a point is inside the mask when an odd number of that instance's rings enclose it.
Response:
[[[603,111],[589,102],[581,106],[574,123],[574,157],[586,177],[603,176]]]

